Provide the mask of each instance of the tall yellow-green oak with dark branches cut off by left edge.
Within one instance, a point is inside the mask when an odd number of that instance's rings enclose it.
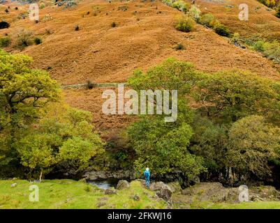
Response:
[[[60,98],[56,81],[47,72],[31,68],[32,59],[0,49],[0,164],[16,157],[18,131],[34,123],[48,102]]]

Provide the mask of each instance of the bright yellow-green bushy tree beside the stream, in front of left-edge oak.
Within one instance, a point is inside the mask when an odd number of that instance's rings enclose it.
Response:
[[[104,151],[101,138],[93,131],[90,112],[51,106],[36,128],[24,132],[15,144],[20,162],[29,168],[30,176],[43,176],[54,167],[76,174]]]

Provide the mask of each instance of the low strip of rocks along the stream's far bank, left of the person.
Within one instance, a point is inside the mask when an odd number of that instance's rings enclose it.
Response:
[[[87,180],[105,180],[115,178],[118,180],[135,178],[134,171],[87,171],[84,176]]]

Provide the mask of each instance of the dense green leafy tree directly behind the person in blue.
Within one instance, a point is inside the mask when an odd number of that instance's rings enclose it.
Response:
[[[174,172],[193,178],[205,171],[202,159],[189,153],[193,132],[187,123],[165,123],[160,117],[145,117],[128,128],[135,149],[135,170],[149,167],[154,175]]]

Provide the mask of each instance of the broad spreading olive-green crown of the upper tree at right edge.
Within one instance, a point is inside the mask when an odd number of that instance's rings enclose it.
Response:
[[[251,72],[229,70],[207,75],[193,94],[208,116],[237,121],[252,114],[280,118],[280,84]]]

